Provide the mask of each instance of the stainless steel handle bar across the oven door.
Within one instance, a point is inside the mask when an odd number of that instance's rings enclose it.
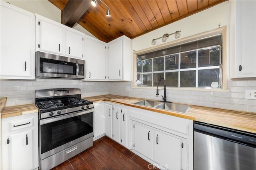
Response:
[[[47,119],[42,119],[42,120],[40,120],[40,125],[44,125],[46,123],[51,123],[51,122],[54,122],[54,121],[67,119],[67,118],[70,118],[70,117],[84,115],[84,114],[87,114],[87,113],[93,113],[93,111],[94,111],[94,108],[84,110],[84,111],[77,111],[77,112],[69,113],[69,114],[66,114],[66,115],[60,115],[60,116],[56,116],[56,117],[50,117],[50,118],[47,118]]]

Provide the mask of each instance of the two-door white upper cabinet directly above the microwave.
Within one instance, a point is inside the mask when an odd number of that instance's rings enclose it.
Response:
[[[36,51],[84,59],[84,33],[36,14]]]

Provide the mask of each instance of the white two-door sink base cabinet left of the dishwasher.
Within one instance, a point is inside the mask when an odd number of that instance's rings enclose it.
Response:
[[[192,120],[132,107],[129,115],[133,152],[152,167],[193,169]]]

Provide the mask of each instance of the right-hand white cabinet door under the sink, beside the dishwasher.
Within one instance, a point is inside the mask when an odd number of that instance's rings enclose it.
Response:
[[[182,140],[154,131],[154,161],[170,170],[182,169]]]

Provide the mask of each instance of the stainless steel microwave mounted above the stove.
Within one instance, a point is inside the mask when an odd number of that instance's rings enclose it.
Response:
[[[85,78],[85,61],[36,52],[36,77],[37,78]]]

